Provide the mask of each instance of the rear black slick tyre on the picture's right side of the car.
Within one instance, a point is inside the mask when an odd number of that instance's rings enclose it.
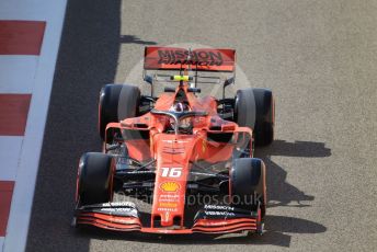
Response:
[[[274,140],[274,98],[267,89],[238,90],[235,100],[235,121],[253,130],[255,146],[267,146]]]

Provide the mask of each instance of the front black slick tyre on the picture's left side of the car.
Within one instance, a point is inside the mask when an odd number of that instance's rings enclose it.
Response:
[[[79,163],[77,179],[79,205],[106,203],[112,199],[112,158],[100,152],[84,153]]]

